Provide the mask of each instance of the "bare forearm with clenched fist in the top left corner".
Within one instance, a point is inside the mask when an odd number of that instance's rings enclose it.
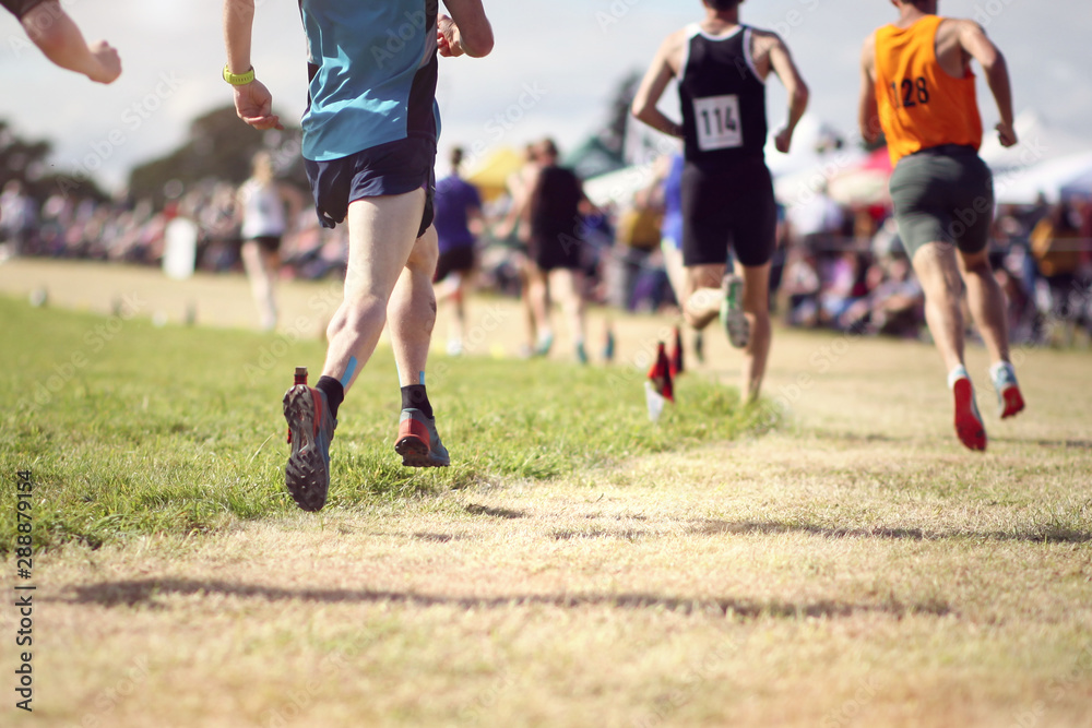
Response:
[[[88,45],[57,2],[44,2],[26,13],[23,28],[46,58],[62,69],[97,83],[111,83],[121,75],[118,51],[105,40]]]

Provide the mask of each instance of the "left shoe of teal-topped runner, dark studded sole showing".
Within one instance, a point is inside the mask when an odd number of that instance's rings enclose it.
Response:
[[[288,422],[292,453],[284,468],[284,482],[296,505],[321,510],[330,489],[330,441],[337,420],[330,414],[327,394],[296,384],[284,394],[284,418]]]

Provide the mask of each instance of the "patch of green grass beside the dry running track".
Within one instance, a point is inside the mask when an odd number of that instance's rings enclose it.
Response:
[[[284,514],[281,397],[293,367],[312,382],[319,341],[35,309],[0,298],[2,477],[35,482],[37,548],[98,547],[147,534],[221,528]],[[14,345],[12,345],[14,344]],[[633,457],[760,432],[775,417],[735,390],[682,378],[658,425],[643,373],[556,361],[434,357],[429,392],[451,468],[404,468],[392,450],[399,393],[380,347],[341,410],[328,508],[477,482],[549,480]],[[0,551],[16,536],[14,488],[0,496]]]

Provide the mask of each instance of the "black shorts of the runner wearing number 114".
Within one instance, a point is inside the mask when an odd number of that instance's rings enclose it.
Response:
[[[682,264],[726,264],[728,251],[748,267],[773,256],[778,205],[761,158],[726,169],[682,168]]]

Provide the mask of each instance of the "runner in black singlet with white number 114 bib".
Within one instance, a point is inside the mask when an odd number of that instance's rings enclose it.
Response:
[[[769,279],[776,207],[763,158],[765,79],[788,91],[788,121],[774,143],[787,152],[808,89],[776,34],[739,24],[741,0],[703,0],[705,19],[667,36],[633,99],[633,116],[684,140],[682,313],[695,329],[717,313],[744,348],[741,396],[755,399],[770,350]],[[679,82],[682,123],[656,103]],[[731,249],[736,273],[725,277]]]

